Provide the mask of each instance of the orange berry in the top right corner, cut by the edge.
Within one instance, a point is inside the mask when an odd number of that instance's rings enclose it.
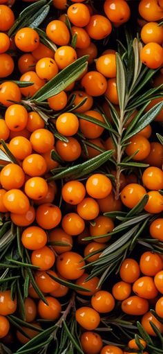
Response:
[[[157,0],[141,0],[139,3],[139,12],[146,21],[159,21],[162,19],[163,10]]]

